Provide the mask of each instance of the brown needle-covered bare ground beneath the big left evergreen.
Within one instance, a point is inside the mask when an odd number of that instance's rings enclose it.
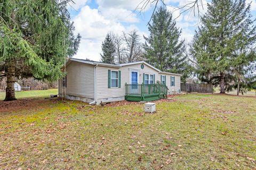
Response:
[[[35,108],[35,106],[48,103],[49,101],[49,99],[18,99],[13,101],[0,101],[0,113],[31,109]]]

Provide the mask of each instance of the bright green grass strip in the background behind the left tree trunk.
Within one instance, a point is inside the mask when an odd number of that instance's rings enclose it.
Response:
[[[15,97],[20,98],[46,98],[50,95],[57,95],[58,89],[49,90],[30,90],[30,91],[17,91],[15,92]],[[5,98],[5,92],[0,92],[0,100]]]

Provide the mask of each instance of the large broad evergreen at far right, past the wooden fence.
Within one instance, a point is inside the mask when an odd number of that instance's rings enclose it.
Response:
[[[256,36],[251,18],[245,0],[213,0],[201,18],[191,54],[198,62],[199,79],[220,85],[221,93],[241,82],[246,66],[255,61],[252,45]]]

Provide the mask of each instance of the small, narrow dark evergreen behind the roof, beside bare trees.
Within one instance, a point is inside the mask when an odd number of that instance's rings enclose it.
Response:
[[[101,45],[101,62],[115,64],[115,44],[111,39],[110,33],[107,33],[105,40]]]

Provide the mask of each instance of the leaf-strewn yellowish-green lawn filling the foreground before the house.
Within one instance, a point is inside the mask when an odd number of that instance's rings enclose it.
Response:
[[[154,114],[57,99],[0,111],[0,169],[256,169],[255,159],[255,97],[181,95]]]

